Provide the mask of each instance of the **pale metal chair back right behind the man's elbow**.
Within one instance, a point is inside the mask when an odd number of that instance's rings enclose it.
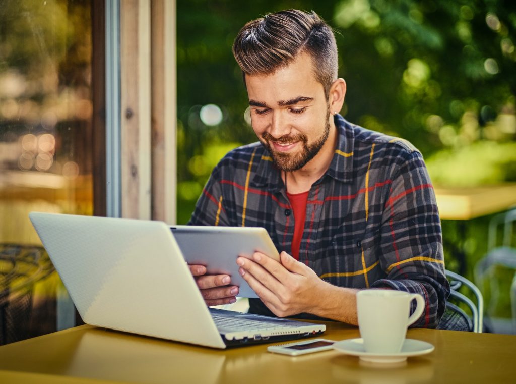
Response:
[[[457,316],[464,319],[467,324],[467,330],[481,333],[483,329],[483,296],[475,284],[467,280],[460,274],[445,270],[446,278],[450,282],[450,296],[446,303],[446,308],[455,311]],[[459,288],[465,286],[470,289],[476,299],[476,304],[459,292]],[[460,308],[459,305],[465,305],[471,312],[471,318]]]

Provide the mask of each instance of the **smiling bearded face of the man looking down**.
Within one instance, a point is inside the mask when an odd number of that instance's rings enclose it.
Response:
[[[246,75],[253,130],[283,171],[300,170],[321,150],[333,151],[327,142],[335,136],[333,119],[312,68],[310,55],[301,53],[274,73]]]

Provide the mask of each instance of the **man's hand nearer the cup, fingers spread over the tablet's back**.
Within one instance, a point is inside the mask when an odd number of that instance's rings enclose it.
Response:
[[[328,295],[329,284],[286,252],[280,254],[280,260],[281,264],[255,252],[252,260],[238,257],[237,264],[240,274],[276,316],[317,314],[316,307]]]

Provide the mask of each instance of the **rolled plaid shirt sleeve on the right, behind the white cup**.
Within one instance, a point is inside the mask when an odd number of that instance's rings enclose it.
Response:
[[[371,287],[422,295],[426,308],[412,327],[435,328],[444,313],[449,283],[436,197],[421,154],[410,152],[392,179],[382,217],[379,256],[386,277]],[[414,310],[415,302],[411,313]]]

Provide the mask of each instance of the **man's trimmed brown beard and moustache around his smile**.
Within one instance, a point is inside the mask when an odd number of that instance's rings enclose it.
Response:
[[[300,170],[310,160],[312,160],[317,153],[321,150],[324,143],[328,139],[330,133],[330,111],[326,112],[326,119],[324,130],[319,137],[315,139],[313,143],[308,143],[308,137],[304,134],[285,135],[278,139],[272,137],[271,134],[264,132],[262,134],[263,141],[260,141],[262,145],[267,148],[272,157],[272,162],[281,170],[285,172],[293,172]],[[271,141],[276,143],[294,143],[301,142],[302,148],[296,153],[283,153],[273,149]]]

